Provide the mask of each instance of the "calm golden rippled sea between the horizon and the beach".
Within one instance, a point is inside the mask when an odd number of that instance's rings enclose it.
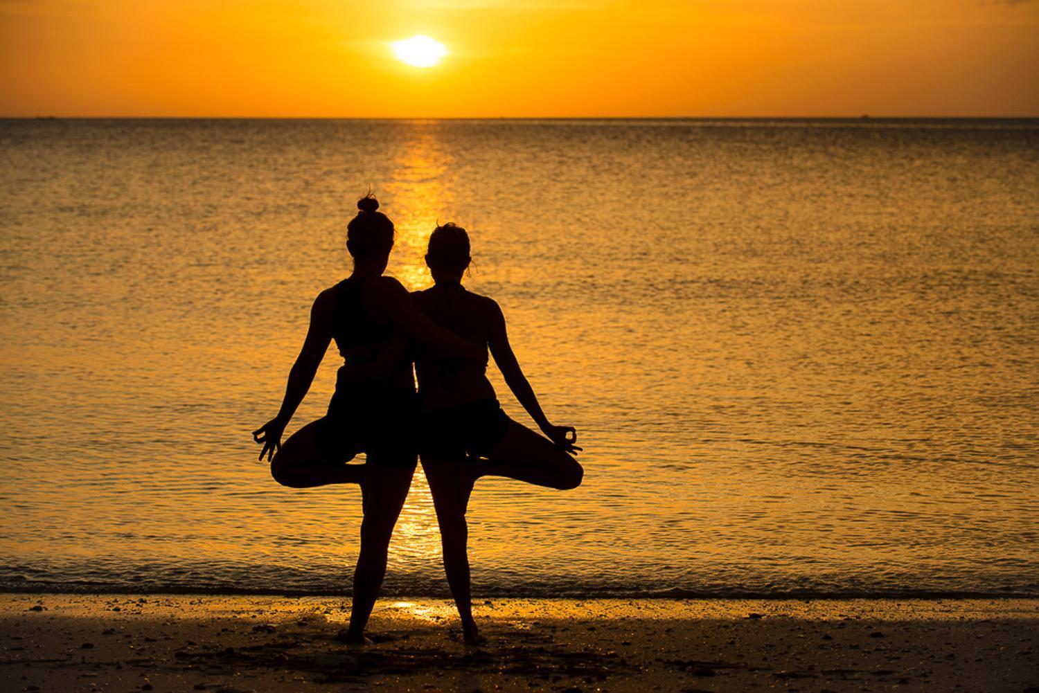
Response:
[[[0,589],[349,590],[357,488],[249,431],[372,186],[408,287],[470,229],[585,446],[477,485],[479,594],[1039,595],[1039,122],[7,121],[0,164]],[[446,592],[421,472],[388,586]]]

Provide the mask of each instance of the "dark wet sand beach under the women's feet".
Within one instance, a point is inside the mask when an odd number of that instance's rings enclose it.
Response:
[[[0,595],[3,691],[1025,691],[1039,601]]]

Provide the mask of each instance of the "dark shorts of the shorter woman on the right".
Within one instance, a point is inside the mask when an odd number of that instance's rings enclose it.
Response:
[[[497,399],[423,411],[419,451],[449,459],[485,457],[502,442],[508,428],[509,418]]]

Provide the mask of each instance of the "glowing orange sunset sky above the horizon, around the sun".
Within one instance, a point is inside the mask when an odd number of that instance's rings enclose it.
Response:
[[[1039,0],[0,0],[0,115],[862,113],[1039,115]]]

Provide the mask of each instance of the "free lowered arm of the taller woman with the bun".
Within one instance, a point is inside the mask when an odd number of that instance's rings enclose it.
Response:
[[[303,340],[303,348],[296,356],[296,363],[289,371],[289,382],[285,388],[285,397],[282,399],[282,408],[277,416],[266,424],[252,431],[252,439],[263,445],[260,451],[260,459],[267,455],[271,459],[274,453],[282,447],[282,433],[289,425],[289,420],[296,412],[299,403],[307,396],[307,391],[314,382],[314,374],[324,358],[325,351],[328,350],[328,343],[331,342],[332,314],[335,312],[334,297],[328,291],[323,291],[314,300],[311,308],[311,324],[307,329],[307,338]]]

